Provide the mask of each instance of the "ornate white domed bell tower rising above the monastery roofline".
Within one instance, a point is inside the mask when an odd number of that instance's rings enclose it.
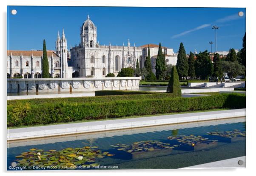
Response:
[[[87,20],[81,26],[81,45],[82,47],[96,47],[97,44],[97,27],[90,20],[90,16],[88,14]]]

